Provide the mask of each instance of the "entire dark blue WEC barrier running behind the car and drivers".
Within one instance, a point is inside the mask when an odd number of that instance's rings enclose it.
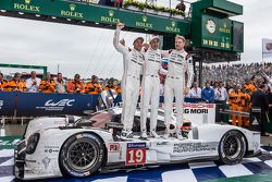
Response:
[[[88,94],[44,94],[0,92],[0,116],[37,117],[55,114],[84,114],[85,110],[96,110],[99,95]],[[114,105],[122,101],[121,95]],[[163,102],[163,97],[160,97]],[[185,98],[185,102],[198,102],[201,99]]]

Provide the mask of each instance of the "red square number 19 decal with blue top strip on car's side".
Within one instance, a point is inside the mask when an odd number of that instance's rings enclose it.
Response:
[[[146,143],[127,143],[126,166],[137,166],[146,163]]]

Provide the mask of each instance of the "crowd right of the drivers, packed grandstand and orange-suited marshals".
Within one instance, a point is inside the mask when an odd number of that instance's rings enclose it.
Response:
[[[205,66],[202,77],[205,87],[194,84],[188,97],[201,98],[206,102],[221,104],[233,111],[249,112],[261,108],[261,133],[264,135],[264,123],[272,119],[272,63],[220,64]],[[261,97],[260,97],[261,96]],[[258,118],[256,118],[259,120]],[[223,120],[221,118],[221,120]],[[248,118],[232,116],[232,124],[249,126]]]

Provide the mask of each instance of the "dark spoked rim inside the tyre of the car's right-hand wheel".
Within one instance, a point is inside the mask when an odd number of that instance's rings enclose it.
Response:
[[[230,135],[225,138],[223,146],[224,154],[230,159],[235,159],[239,156],[242,150],[242,143],[237,136]]]

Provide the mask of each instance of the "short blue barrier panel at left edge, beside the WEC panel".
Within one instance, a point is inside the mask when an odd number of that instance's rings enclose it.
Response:
[[[0,92],[0,116],[14,116],[15,96],[15,92]]]

